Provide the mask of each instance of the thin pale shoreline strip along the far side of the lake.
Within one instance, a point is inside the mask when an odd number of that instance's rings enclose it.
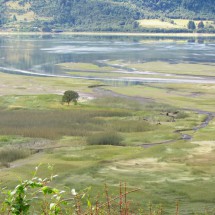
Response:
[[[4,35],[87,35],[87,36],[141,36],[141,37],[215,37],[215,33],[125,33],[125,32],[9,32],[0,31]]]

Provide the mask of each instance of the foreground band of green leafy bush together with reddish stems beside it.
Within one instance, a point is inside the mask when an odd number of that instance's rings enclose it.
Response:
[[[52,167],[49,166],[49,169]],[[98,197],[93,206],[87,194],[90,188],[77,193],[72,189],[70,193],[51,186],[57,175],[48,178],[36,176],[38,167],[30,180],[21,181],[13,190],[3,191],[5,200],[0,204],[0,214],[7,215],[115,215],[130,214],[128,194],[140,189],[128,190],[126,184],[120,184],[119,195],[112,197],[105,185],[102,200]]]

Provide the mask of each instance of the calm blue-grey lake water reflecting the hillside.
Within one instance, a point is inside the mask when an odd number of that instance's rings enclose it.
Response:
[[[215,38],[164,40],[110,36],[0,36],[0,71],[3,72],[72,77],[56,64],[83,62],[102,65],[109,60],[130,63],[163,61],[176,65],[213,64]],[[108,80],[106,77],[104,79]],[[132,78],[130,81],[144,82],[144,78],[141,80]]]

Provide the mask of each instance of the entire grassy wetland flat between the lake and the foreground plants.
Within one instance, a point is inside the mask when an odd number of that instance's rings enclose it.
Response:
[[[105,183],[118,193],[119,183],[126,182],[128,189],[141,189],[130,194],[134,210],[151,202],[174,214],[179,202],[180,214],[214,214],[212,60],[172,64],[118,58],[56,62],[55,67],[76,77],[0,73],[2,187],[30,178],[40,163],[38,174],[46,177],[52,164],[59,175],[53,183],[62,189],[92,186],[93,196]],[[96,74],[109,79],[89,79]],[[66,90],[80,94],[77,105],[61,102]]]

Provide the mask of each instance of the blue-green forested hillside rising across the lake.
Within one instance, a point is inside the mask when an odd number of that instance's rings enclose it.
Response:
[[[0,4],[0,25],[7,20],[19,30],[143,31],[136,20],[215,19],[214,0],[0,0]]]

